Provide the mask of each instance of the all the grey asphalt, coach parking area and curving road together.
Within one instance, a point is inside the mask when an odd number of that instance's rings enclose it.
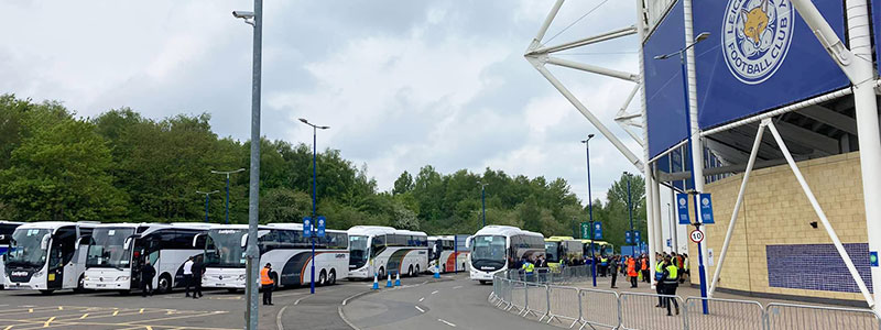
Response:
[[[491,285],[466,274],[401,278],[401,287],[371,290],[372,282],[275,292],[274,306],[260,306],[261,330],[292,329],[559,329],[492,307]],[[43,296],[0,290],[0,330],[182,329],[232,330],[244,327],[242,293],[206,290],[202,299],[178,290],[142,298],[116,292]]]

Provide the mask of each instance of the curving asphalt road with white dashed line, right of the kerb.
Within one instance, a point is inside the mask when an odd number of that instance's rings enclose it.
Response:
[[[561,329],[497,309],[487,301],[492,285],[467,275],[448,280],[385,289],[341,307],[358,329]]]

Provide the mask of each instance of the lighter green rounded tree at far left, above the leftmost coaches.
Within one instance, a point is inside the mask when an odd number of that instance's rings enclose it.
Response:
[[[127,200],[111,184],[110,162],[110,150],[88,122],[34,128],[0,172],[0,194],[15,220],[120,221]]]

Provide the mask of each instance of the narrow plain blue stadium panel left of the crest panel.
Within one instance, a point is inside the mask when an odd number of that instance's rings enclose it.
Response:
[[[682,1],[671,9],[644,45],[645,101],[651,157],[685,140],[685,96],[678,58],[654,59],[685,45]]]

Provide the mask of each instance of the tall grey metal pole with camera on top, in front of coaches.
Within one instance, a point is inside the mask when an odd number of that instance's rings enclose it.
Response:
[[[250,182],[248,193],[248,248],[246,250],[248,293],[248,310],[246,314],[248,330],[257,330],[257,278],[259,277],[260,250],[257,248],[257,223],[260,206],[260,74],[262,63],[263,38],[263,0],[254,0],[254,11],[233,11],[232,16],[244,20],[253,26],[253,63],[251,72],[251,157]],[[227,198],[229,200],[229,198]]]

